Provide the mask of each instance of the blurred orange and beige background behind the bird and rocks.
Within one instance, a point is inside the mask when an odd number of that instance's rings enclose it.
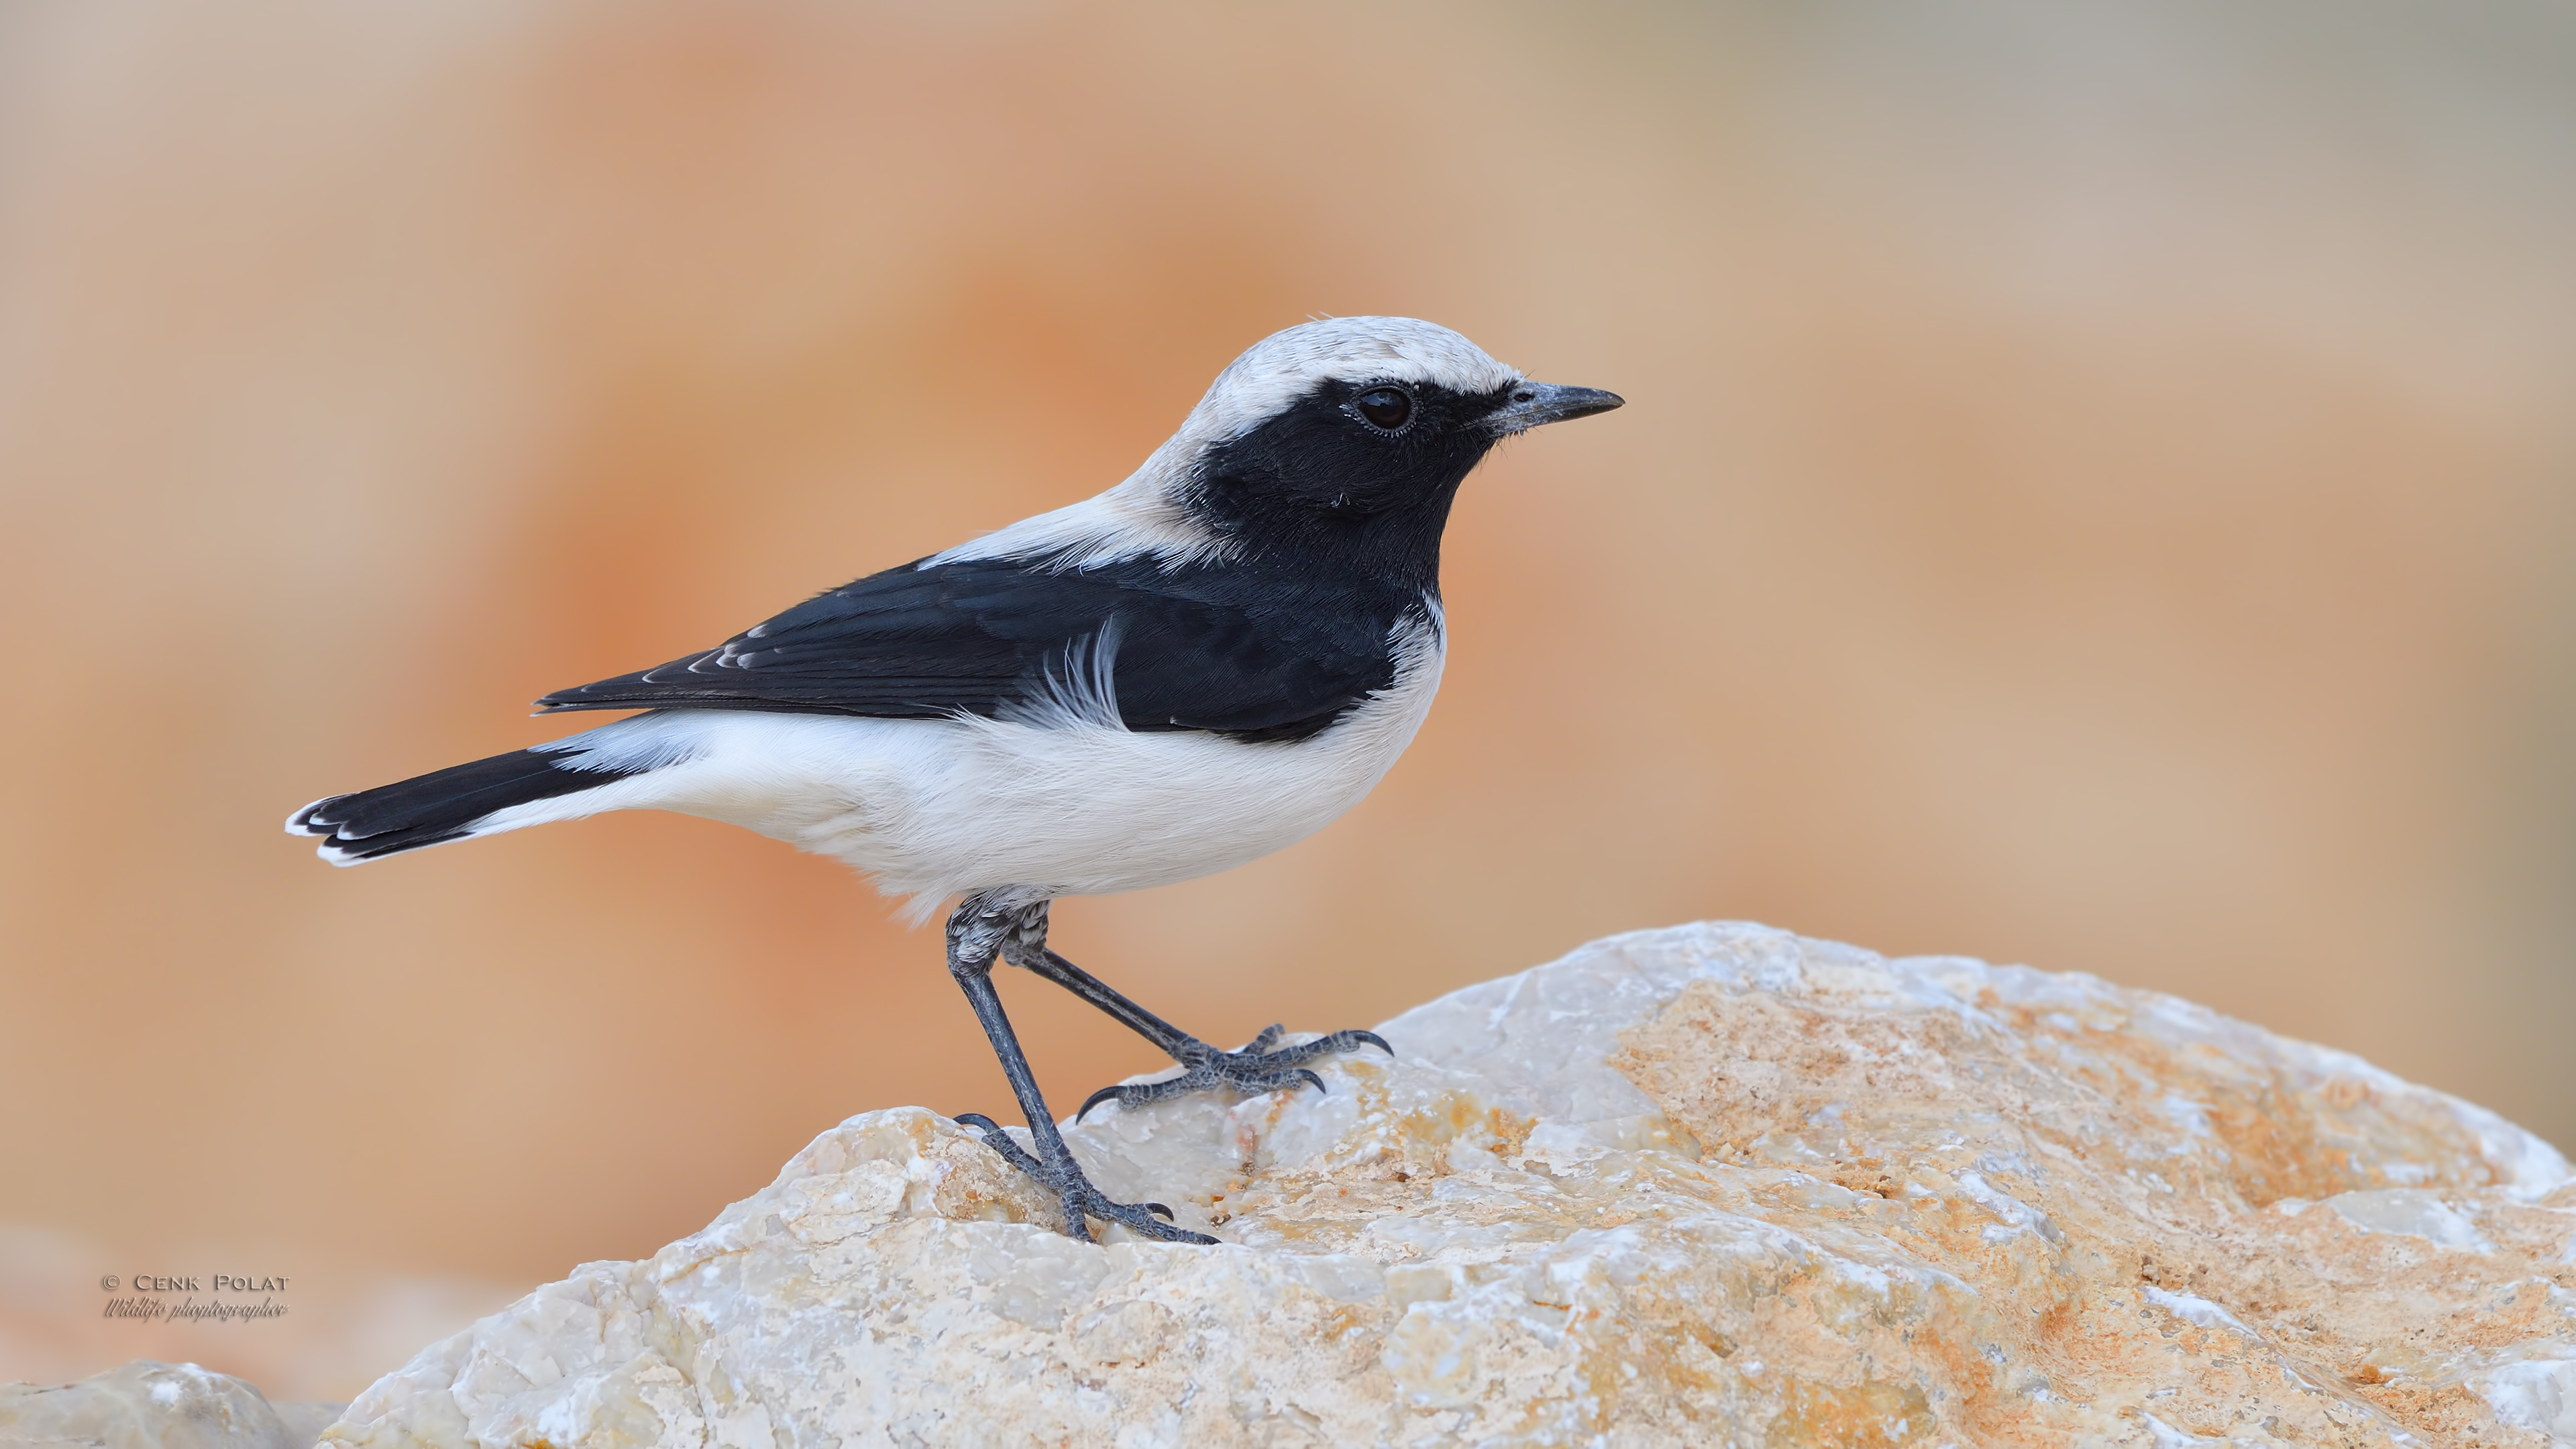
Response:
[[[1376,797],[1077,962],[1236,1042],[1759,918],[2571,1142],[2571,258],[2537,0],[10,5],[0,1379],[343,1397],[853,1111],[1002,1114],[829,861],[278,820],[1095,492],[1311,312],[1628,410],[1468,482]],[[1005,995],[1059,1104],[1157,1065]]]

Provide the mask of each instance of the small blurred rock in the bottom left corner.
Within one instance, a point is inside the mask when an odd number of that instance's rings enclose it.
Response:
[[[77,1385],[0,1385],[0,1444],[309,1449],[335,1403],[268,1403],[232,1374],[137,1359]]]

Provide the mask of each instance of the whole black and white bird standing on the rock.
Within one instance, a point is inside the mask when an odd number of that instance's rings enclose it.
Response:
[[[1358,804],[1440,686],[1440,534],[1484,454],[1618,407],[1530,382],[1448,327],[1334,317],[1255,343],[1133,477],[873,572],[659,668],[549,694],[641,709],[531,750],[332,794],[286,820],[353,866],[603,810],[680,810],[837,856],[912,920],[948,915],[966,990],[1036,1155],[984,1140],[1064,1204],[1213,1243],[1162,1204],[1110,1201],[1038,1096],[994,962],[1030,969],[1182,1065],[1082,1104],[1278,1091],[1363,1044],[1280,1029],[1221,1052],[1046,946],[1059,895],[1224,871]],[[1079,1116],[1079,1114],[1077,1114]]]

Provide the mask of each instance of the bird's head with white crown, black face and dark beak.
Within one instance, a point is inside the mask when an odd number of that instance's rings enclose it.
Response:
[[[1419,547],[1425,531],[1437,547],[1450,498],[1494,443],[1618,405],[1597,387],[1530,382],[1432,322],[1329,317],[1273,333],[1216,374],[1157,454],[1157,482],[1249,552],[1291,539]]]

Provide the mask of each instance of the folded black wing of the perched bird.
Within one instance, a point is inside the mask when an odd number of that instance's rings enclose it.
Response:
[[[1386,593],[1386,598],[1376,598]],[[1110,639],[1128,730],[1298,740],[1394,681],[1388,637],[1422,601],[1242,565],[1033,570],[1010,559],[868,575],[662,668],[549,694],[544,709],[1002,714]]]

